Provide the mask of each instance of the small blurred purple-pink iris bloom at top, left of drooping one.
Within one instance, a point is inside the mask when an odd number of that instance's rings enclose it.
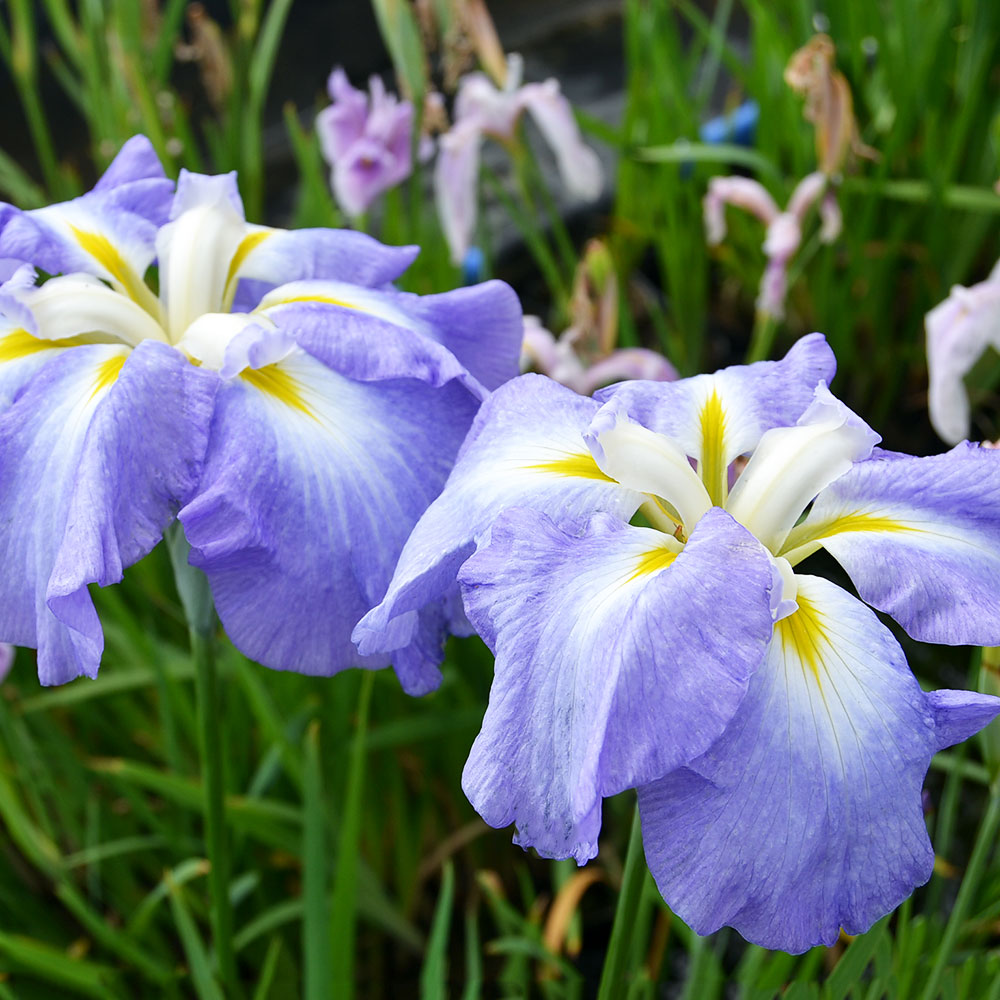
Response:
[[[316,116],[323,157],[337,203],[351,218],[368,210],[383,191],[401,184],[413,169],[413,105],[388,94],[373,76],[368,93],[352,87],[339,67],[327,90],[333,104]],[[429,154],[424,140],[421,155]]]

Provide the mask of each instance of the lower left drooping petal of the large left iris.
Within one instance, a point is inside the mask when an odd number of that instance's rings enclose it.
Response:
[[[43,684],[93,677],[87,585],[159,541],[194,488],[217,379],[164,344],[62,351],[0,415],[0,635],[38,648]]]

